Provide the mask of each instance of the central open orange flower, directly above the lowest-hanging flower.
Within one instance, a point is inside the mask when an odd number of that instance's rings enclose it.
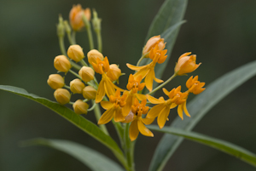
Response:
[[[145,83],[141,83],[142,79],[143,79],[142,76],[137,77],[137,79],[135,79],[132,74],[130,74],[129,76],[126,88],[130,91],[129,92],[125,91],[125,94],[128,95],[126,100],[126,105],[124,107],[125,115],[128,115],[128,113],[131,111],[131,105],[134,103],[134,100],[136,99],[136,97],[138,100],[147,99],[146,95],[137,94],[137,91],[141,91],[145,87]]]

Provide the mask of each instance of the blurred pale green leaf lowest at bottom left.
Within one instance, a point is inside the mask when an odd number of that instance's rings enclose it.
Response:
[[[34,139],[22,142],[22,145],[46,145],[59,151],[66,152],[72,157],[83,162],[94,171],[123,171],[116,162],[103,156],[98,151],[94,151],[84,145],[79,145],[68,140],[46,140]]]

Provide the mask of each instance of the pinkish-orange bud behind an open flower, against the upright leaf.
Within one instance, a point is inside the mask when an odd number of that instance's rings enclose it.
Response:
[[[164,43],[164,40],[165,39],[161,38],[160,35],[149,38],[148,42],[143,48],[143,54],[149,53],[150,50],[155,47],[155,45],[158,45],[159,50],[163,50],[166,48],[166,43]],[[149,55],[147,54],[145,57],[148,58]]]

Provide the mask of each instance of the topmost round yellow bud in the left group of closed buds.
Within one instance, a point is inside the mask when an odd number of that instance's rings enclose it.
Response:
[[[67,56],[70,59],[72,59],[76,62],[79,62],[80,60],[82,60],[84,58],[83,48],[81,48],[78,44],[71,45],[67,49]]]

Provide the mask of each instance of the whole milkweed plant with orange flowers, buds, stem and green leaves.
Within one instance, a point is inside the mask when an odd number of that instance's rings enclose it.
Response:
[[[179,137],[212,146],[255,167],[256,156],[253,152],[224,140],[191,132],[201,117],[224,98],[223,94],[230,93],[232,89],[256,74],[255,61],[231,71],[206,86],[199,76],[187,76],[201,66],[201,62],[197,61],[200,61],[201,57],[197,59],[197,56],[191,52],[182,52],[180,56],[172,56],[177,62],[173,69],[169,68],[169,78],[166,80],[160,78],[170,58],[178,30],[184,22],[186,4],[186,0],[166,0],[149,28],[144,47],[138,47],[143,48],[143,51],[142,55],[137,57],[137,64],[131,64],[129,59],[126,59],[130,73],[123,73],[123,68],[113,63],[111,55],[105,56],[102,52],[102,19],[98,18],[96,9],[91,12],[91,9],[83,9],[80,4],[73,5],[69,13],[69,21],[59,16],[57,37],[61,54],[55,56],[56,72],[50,74],[47,80],[49,87],[54,89],[56,102],[28,94],[21,88],[0,87],[35,100],[61,117],[65,117],[67,121],[106,145],[119,163],[113,162],[99,151],[67,140],[35,139],[27,140],[24,145],[48,145],[67,152],[91,170],[134,171],[135,166],[139,164],[139,161],[134,161],[134,148],[136,140],[140,137],[139,134],[147,136],[149,141],[154,139],[154,131],[159,131],[166,136],[160,141],[151,163],[148,164],[151,171],[162,170],[165,167],[173,151],[182,141]],[[174,5],[177,6],[173,7]],[[166,20],[172,22],[166,24]],[[163,25],[167,27],[164,29]],[[88,52],[76,42],[76,37],[82,31],[88,34],[88,46],[90,46]],[[68,48],[64,45],[65,37],[70,43]],[[236,75],[242,73],[247,73],[247,77],[236,79]],[[73,79],[67,80],[67,74],[73,75]],[[124,74],[129,76],[128,80],[122,77]],[[96,75],[100,76],[100,79],[96,79]],[[172,84],[167,84],[180,76],[186,80],[184,85],[172,87]],[[232,85],[225,85],[227,78],[233,80]],[[126,83],[126,87],[119,87],[119,81]],[[220,87],[222,92],[217,91]],[[163,92],[165,95],[158,97],[156,92]],[[71,101],[73,94],[82,95],[81,98]],[[190,94],[196,96],[188,105]],[[171,126],[168,126],[166,122],[172,113],[177,113],[177,118]],[[90,122],[86,118],[87,115],[95,115],[97,123]],[[188,117],[187,122],[183,122],[184,117]],[[154,121],[157,124],[154,124]],[[119,142],[111,138],[106,124],[113,124]],[[165,141],[170,143],[164,143]]]

